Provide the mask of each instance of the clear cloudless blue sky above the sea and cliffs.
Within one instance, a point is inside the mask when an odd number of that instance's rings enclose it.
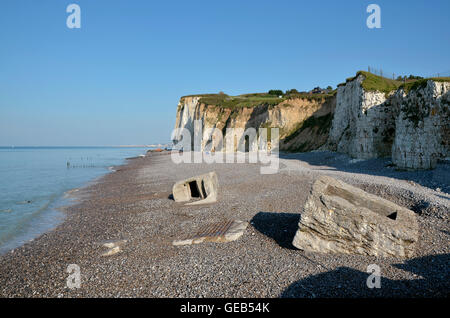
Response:
[[[81,7],[81,29],[66,7]],[[381,7],[381,29],[366,8]],[[450,71],[450,1],[3,0],[0,145],[170,139],[180,96]]]

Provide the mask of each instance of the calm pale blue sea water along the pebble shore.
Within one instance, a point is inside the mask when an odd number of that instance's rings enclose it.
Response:
[[[55,227],[65,193],[146,148],[0,147],[0,254]]]

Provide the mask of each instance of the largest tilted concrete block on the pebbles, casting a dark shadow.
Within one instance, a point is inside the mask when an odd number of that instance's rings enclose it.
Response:
[[[413,211],[328,176],[313,184],[292,244],[322,253],[411,257]]]

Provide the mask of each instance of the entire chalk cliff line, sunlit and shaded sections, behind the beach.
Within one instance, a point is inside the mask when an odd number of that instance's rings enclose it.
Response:
[[[247,95],[236,97],[237,104],[221,97],[220,106],[205,102],[215,97],[204,96],[182,97],[175,124],[175,128],[188,129],[191,136],[201,130],[201,149],[197,150],[236,151],[247,128],[279,128],[279,149],[284,151],[321,148],[358,159],[391,157],[401,169],[434,168],[439,158],[449,156],[449,78],[402,84],[358,72],[340,85],[335,95],[303,95],[280,102],[272,97],[270,103],[258,101],[249,106]],[[194,121],[200,125],[194,127]],[[242,131],[236,135],[234,147],[224,147],[207,128],[219,129],[224,138],[228,128]],[[173,139],[176,143],[181,135]],[[260,149],[266,147],[259,145]]]

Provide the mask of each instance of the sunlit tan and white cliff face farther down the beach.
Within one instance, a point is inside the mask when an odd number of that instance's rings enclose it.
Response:
[[[201,150],[236,151],[222,147],[207,128],[217,128],[226,138],[228,128],[279,128],[280,150],[308,151],[322,146],[328,139],[336,99],[292,98],[276,105],[229,108],[201,102],[201,96],[183,97],[178,103],[175,128],[186,128],[194,136],[201,130]],[[195,127],[194,121],[201,125]],[[270,134],[270,133],[268,133]],[[242,138],[242,133],[236,139]],[[181,134],[174,136],[181,140]],[[268,138],[269,139],[269,138]],[[265,148],[260,145],[260,148]],[[199,149],[200,150],[200,149]]]

